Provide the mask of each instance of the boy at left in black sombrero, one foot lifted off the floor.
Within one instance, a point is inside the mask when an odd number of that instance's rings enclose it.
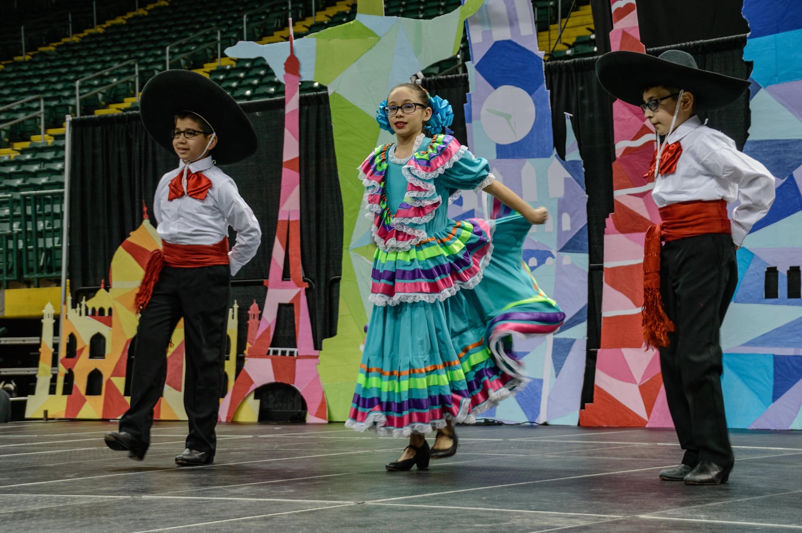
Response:
[[[166,352],[184,318],[184,408],[189,421],[180,466],[213,462],[215,426],[225,361],[229,278],[257,252],[261,230],[217,164],[235,163],[256,151],[248,117],[221,87],[191,71],[165,71],[145,85],[140,99],[148,133],[180,158],[156,186],[153,212],[162,249],[152,252],[136,309],[131,407],[119,432],[106,434],[112,450],[144,458],[153,408],[164,390]],[[229,226],[237,243],[229,250]]]

